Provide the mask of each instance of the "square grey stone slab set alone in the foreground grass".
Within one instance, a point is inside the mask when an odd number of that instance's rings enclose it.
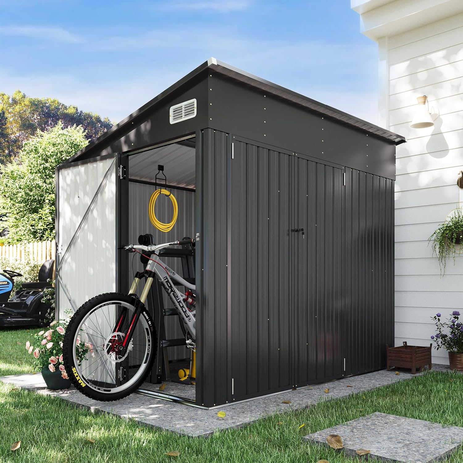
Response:
[[[326,437],[338,434],[344,452],[357,456],[356,450],[370,450],[369,458],[384,462],[425,463],[447,457],[463,441],[463,428],[445,426],[386,413],[353,419],[342,425],[304,437],[309,442],[326,445]]]

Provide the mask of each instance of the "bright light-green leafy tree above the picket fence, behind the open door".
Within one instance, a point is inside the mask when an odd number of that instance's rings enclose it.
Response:
[[[59,123],[26,141],[17,159],[1,166],[0,213],[9,243],[55,238],[55,168],[88,144],[81,126]]]

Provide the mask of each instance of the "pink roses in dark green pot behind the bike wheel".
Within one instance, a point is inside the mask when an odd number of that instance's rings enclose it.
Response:
[[[32,335],[32,344],[26,342],[26,350],[34,357],[34,366],[42,372],[49,389],[67,389],[71,385],[63,364],[63,336],[67,325],[65,320],[54,321],[48,329]],[[91,349],[90,344],[80,341],[76,350],[78,359],[84,360]]]

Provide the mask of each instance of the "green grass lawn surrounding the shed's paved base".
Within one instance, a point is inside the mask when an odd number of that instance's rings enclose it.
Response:
[[[0,346],[0,375],[30,371],[23,355],[28,333],[17,330],[17,337],[14,333],[0,331],[2,341],[5,336],[10,340],[7,347],[4,342]],[[191,438],[141,427],[134,421],[110,415],[93,414],[64,400],[0,383],[0,462],[364,461],[302,443],[301,438],[373,412],[463,426],[462,395],[463,375],[432,371],[344,399],[324,400],[304,410],[276,414],[244,429],[217,432],[210,438]],[[12,452],[10,446],[17,440],[21,440],[21,447]],[[180,456],[167,456],[169,451],[178,451]],[[444,461],[463,462],[463,450]]]

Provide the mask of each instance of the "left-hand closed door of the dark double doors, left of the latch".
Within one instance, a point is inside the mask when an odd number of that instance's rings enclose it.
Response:
[[[234,141],[231,401],[292,387],[294,156]]]

